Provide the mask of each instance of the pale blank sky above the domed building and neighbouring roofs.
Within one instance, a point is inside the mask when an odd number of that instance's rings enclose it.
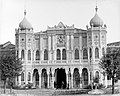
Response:
[[[24,18],[24,9],[34,32],[39,32],[60,21],[86,29],[95,6],[96,0],[0,0],[0,44],[15,44],[15,28]],[[120,41],[120,0],[97,0],[97,6],[98,15],[107,25],[107,43]]]

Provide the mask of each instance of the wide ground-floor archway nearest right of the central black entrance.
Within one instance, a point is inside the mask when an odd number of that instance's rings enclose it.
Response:
[[[78,68],[74,69],[73,73],[73,87],[79,88],[80,87],[80,74]]]

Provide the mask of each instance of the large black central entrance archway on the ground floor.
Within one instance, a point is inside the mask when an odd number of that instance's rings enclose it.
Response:
[[[57,89],[65,89],[66,88],[66,73],[65,69],[56,69],[55,70],[55,88]]]

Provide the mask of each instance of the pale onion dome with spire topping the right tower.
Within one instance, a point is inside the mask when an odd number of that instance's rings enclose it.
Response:
[[[95,16],[90,20],[90,26],[93,26],[93,27],[99,27],[99,26],[103,26],[103,20],[98,16],[97,14],[97,6],[95,8],[96,10],[96,14]]]

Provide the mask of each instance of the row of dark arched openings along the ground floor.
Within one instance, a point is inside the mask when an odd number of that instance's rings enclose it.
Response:
[[[80,88],[80,84],[82,87],[87,86],[89,84],[90,74],[87,68],[83,68],[82,72],[79,72],[78,68],[75,68],[73,73],[69,68],[68,72],[63,68],[55,69],[54,74],[52,74],[51,69],[47,72],[45,68],[42,69],[41,73],[38,72],[38,69],[33,70],[33,74],[28,72],[28,81],[34,83],[34,86],[40,86],[41,88],[51,88],[54,86],[56,89],[65,89],[69,88]],[[54,79],[53,79],[54,78]],[[95,73],[95,80],[99,82],[99,72]],[[21,81],[24,81],[25,75],[24,72],[21,74]],[[40,80],[41,79],[41,80]],[[49,79],[49,80],[48,80]]]

